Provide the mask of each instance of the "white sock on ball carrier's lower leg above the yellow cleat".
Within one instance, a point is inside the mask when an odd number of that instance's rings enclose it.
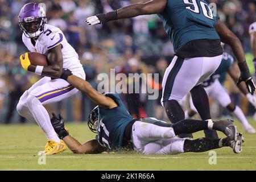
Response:
[[[48,140],[54,140],[55,142],[60,142],[59,137],[54,131],[51,123],[49,114],[42,103],[34,96],[28,96],[27,105],[31,111],[31,114],[35,118],[35,121],[42,128]]]

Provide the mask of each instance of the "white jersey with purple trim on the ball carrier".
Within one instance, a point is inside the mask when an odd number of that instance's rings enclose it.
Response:
[[[44,32],[39,36],[38,40],[36,40],[35,46],[32,44],[31,39],[27,38],[24,33],[22,35],[22,40],[29,51],[38,52],[46,56],[49,49],[61,44],[63,68],[70,69],[71,71],[83,71],[79,56],[75,49],[67,42],[67,39],[60,28],[46,24]]]

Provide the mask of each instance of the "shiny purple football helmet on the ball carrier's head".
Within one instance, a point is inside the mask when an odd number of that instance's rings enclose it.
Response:
[[[37,3],[27,3],[19,12],[19,27],[27,38],[36,38],[44,32],[46,11]]]

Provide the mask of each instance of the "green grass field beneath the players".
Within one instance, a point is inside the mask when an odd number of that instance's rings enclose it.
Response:
[[[256,127],[256,122],[251,122]],[[39,165],[38,151],[46,144],[46,137],[38,126],[0,125],[0,170],[256,170],[256,134],[246,134],[240,123],[238,131],[245,137],[243,151],[234,154],[231,148],[220,148],[217,164],[209,164],[209,152],[179,155],[141,154],[61,154],[46,157]],[[69,132],[81,143],[94,138],[86,123],[67,123]],[[203,132],[196,133],[203,137]],[[224,135],[220,134],[220,137]]]

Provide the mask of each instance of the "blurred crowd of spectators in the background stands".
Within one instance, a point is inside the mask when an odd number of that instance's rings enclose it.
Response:
[[[59,27],[68,42],[79,53],[84,65],[86,80],[97,88],[97,76],[110,73],[159,73],[162,82],[164,70],[174,56],[174,49],[157,15],[138,16],[132,19],[109,22],[102,26],[87,26],[88,16],[105,13],[131,3],[147,0],[55,0],[25,1],[0,0],[0,123],[26,122],[16,113],[16,104],[24,90],[40,77],[23,70],[19,55],[27,49],[22,43],[22,31],[18,26],[18,14],[28,2],[44,2],[48,23]],[[247,60],[252,61],[249,26],[256,20],[256,1],[210,0],[216,3],[220,19],[240,38]],[[231,52],[226,47],[227,52]],[[226,82],[232,99],[242,106],[247,115],[254,113],[230,81]],[[159,87],[159,99],[161,88]],[[122,94],[134,117],[158,117],[166,119],[158,100],[147,100],[143,94]],[[212,103],[214,106],[214,103]],[[63,113],[68,121],[86,121],[94,105],[81,93],[55,105],[47,105],[48,111]],[[228,114],[220,106],[212,113],[219,117]]]

